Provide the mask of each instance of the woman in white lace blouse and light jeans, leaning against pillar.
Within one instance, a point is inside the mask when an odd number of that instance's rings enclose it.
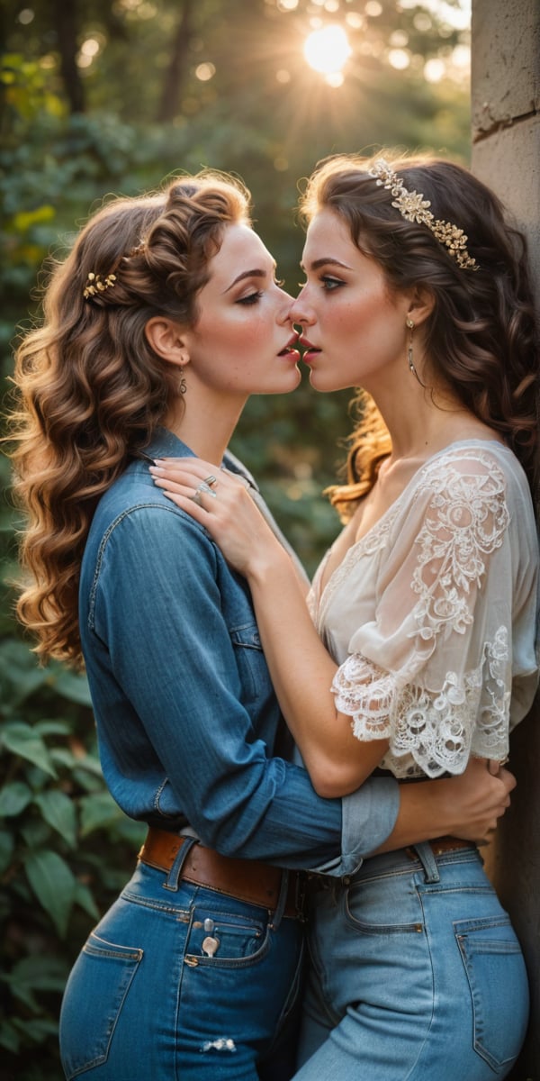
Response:
[[[538,681],[538,349],[525,243],[465,170],[338,157],[302,200],[293,307],[320,391],[362,386],[345,529],[308,614],[241,485],[192,502],[201,462],[154,478],[248,578],[287,723],[318,791],[496,771]],[[316,633],[318,631],[319,633]],[[298,1081],[505,1077],[523,957],[474,845],[454,838],[312,880]]]

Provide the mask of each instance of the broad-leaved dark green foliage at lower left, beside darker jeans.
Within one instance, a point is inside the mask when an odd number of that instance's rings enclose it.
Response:
[[[0,702],[2,1077],[56,1079],[69,967],[144,830],[105,789],[86,681],[38,668],[14,627],[0,639]]]

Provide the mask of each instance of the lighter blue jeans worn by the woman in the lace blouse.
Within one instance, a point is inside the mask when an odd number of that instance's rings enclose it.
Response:
[[[421,856],[421,858],[419,858]],[[525,965],[475,849],[367,859],[314,894],[295,1081],[494,1081],[528,1017]]]

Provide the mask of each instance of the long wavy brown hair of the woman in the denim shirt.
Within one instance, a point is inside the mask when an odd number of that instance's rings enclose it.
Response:
[[[42,324],[16,350],[8,437],[26,520],[17,615],[42,659],[82,664],[79,577],[95,507],[180,392],[145,325],[159,315],[197,322],[208,262],[227,224],[249,223],[249,201],[240,182],[210,171],[116,198],[49,275]]]

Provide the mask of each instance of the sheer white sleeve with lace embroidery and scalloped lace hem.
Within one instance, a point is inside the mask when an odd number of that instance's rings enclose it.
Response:
[[[460,773],[508,753],[515,576],[507,481],[488,454],[423,471],[380,570],[375,618],[336,672],[359,739],[388,738],[397,775]],[[515,539],[515,538],[514,538]]]

